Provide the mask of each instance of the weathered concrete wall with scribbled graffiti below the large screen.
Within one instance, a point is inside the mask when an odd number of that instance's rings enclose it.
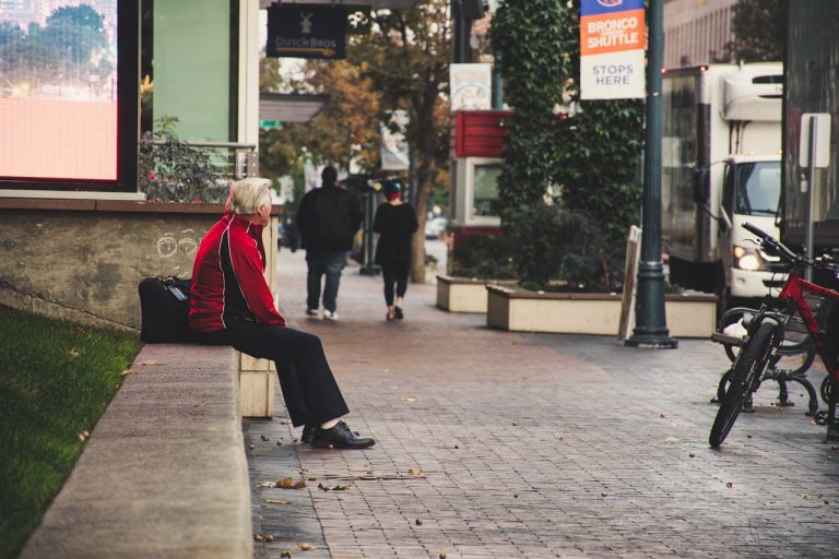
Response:
[[[216,204],[0,200],[0,305],[139,329],[139,282],[191,276],[198,245],[222,211]]]

